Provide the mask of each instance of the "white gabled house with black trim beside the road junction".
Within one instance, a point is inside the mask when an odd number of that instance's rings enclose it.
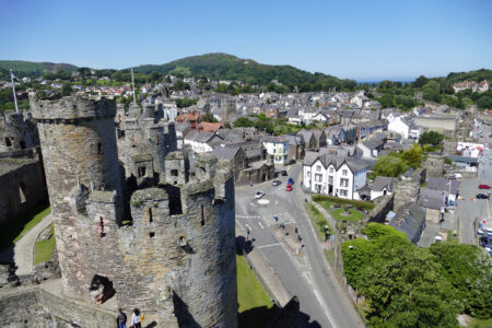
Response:
[[[328,196],[360,200],[367,183],[367,164],[359,157],[307,152],[303,162],[304,189]]]

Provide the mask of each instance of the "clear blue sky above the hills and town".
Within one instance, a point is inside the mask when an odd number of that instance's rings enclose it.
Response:
[[[0,59],[93,68],[227,52],[356,80],[492,69],[492,1],[0,0]]]

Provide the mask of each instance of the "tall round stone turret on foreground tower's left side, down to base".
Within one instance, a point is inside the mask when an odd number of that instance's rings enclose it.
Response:
[[[79,184],[90,190],[114,190],[116,215],[113,220],[120,220],[121,181],[114,122],[116,103],[83,95],[38,99],[33,92],[30,99],[39,129],[63,288],[71,294],[84,295],[85,259],[79,253],[82,232],[79,231],[78,213],[68,199]]]

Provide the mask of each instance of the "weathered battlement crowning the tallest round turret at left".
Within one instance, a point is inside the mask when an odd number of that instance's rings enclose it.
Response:
[[[31,109],[37,120],[73,120],[115,117],[116,102],[106,97],[74,94],[59,99],[39,99],[30,92]]]

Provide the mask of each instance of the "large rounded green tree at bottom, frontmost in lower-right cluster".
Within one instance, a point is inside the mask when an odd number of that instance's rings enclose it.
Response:
[[[385,248],[384,260],[364,270],[361,292],[374,327],[456,327],[453,286],[427,249],[411,244]]]

